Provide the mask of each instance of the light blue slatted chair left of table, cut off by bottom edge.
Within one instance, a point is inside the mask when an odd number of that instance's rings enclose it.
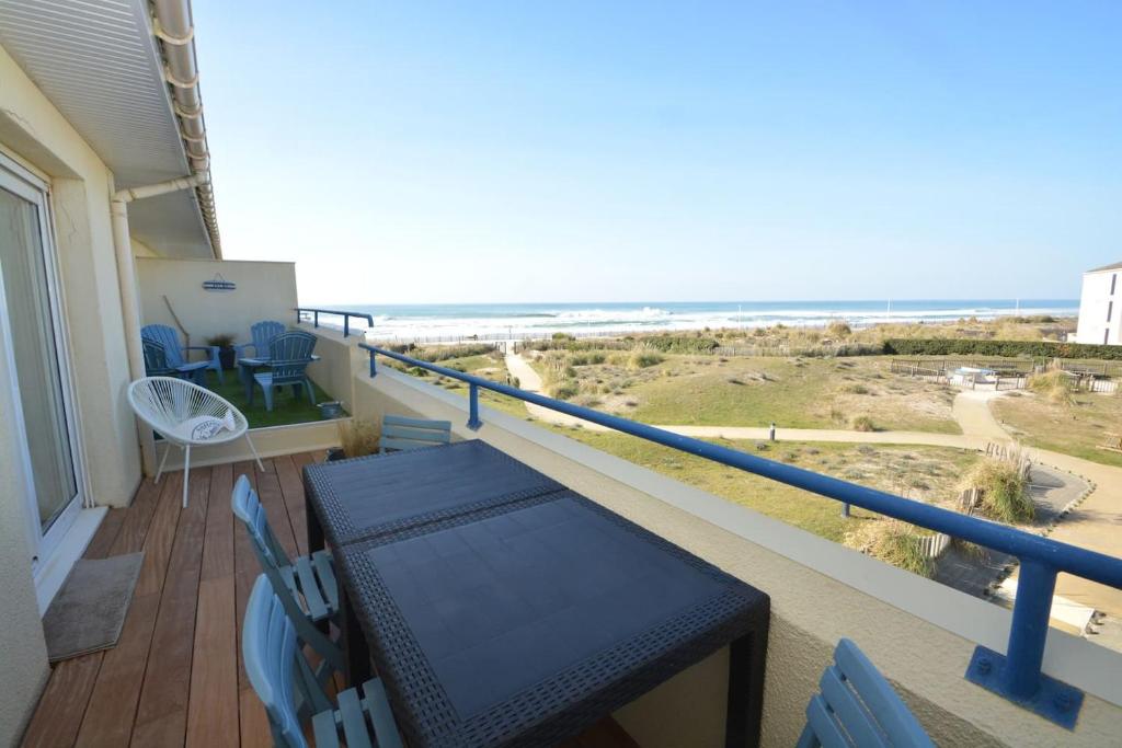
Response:
[[[268,714],[275,746],[307,748],[301,714],[304,707],[311,707],[316,748],[337,748],[340,737],[348,748],[402,748],[378,678],[370,678],[361,690],[341,691],[338,708],[331,704],[301,652],[292,619],[264,574],[246,604],[241,653],[246,675]]]

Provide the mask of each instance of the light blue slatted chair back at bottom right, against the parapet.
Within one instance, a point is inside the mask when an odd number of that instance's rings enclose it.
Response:
[[[798,748],[884,746],[935,748],[892,686],[849,639],[838,641],[834,665],[807,704]]]

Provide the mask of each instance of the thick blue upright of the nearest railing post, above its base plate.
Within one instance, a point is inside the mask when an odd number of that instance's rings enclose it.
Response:
[[[1013,622],[1009,629],[1002,685],[1010,695],[1029,699],[1040,687],[1056,570],[1039,561],[1024,560],[1017,580]]]

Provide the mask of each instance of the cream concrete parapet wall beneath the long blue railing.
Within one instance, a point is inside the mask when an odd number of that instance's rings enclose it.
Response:
[[[804,709],[840,637],[893,681],[939,745],[1097,746],[1122,735],[1122,655],[1051,630],[1045,672],[1087,694],[1074,731],[967,682],[977,644],[1005,650],[1011,613],[719,497],[379,367],[353,380],[355,413],[449,419],[655,532],[772,598],[763,745],[794,745]],[[659,686],[615,717],[643,746],[721,745],[727,650]]]

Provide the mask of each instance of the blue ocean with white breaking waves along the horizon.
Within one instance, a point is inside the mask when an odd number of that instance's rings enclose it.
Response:
[[[344,305],[374,315],[369,336],[380,341],[524,338],[760,327],[778,323],[818,326],[844,320],[853,326],[882,322],[992,320],[1012,314],[1075,316],[1077,299],[909,299],[848,302],[697,302],[605,304]],[[325,318],[327,320],[327,318]]]

